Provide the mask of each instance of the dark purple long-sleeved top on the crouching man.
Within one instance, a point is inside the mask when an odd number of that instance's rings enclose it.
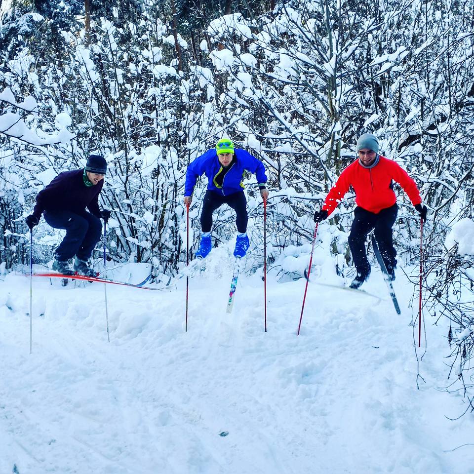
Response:
[[[40,220],[43,211],[68,211],[83,214],[85,208],[101,217],[99,194],[104,180],[94,186],[86,186],[82,179],[83,169],[59,173],[36,197],[33,215]]]

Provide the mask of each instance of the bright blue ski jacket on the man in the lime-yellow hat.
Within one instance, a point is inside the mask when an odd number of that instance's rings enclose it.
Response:
[[[219,186],[215,177],[223,172],[224,167],[219,162],[217,152],[214,148],[208,150],[206,153],[192,161],[188,166],[188,171],[186,172],[184,195],[193,195],[197,178],[201,176],[202,173],[205,173],[209,180],[207,189],[222,193],[223,196],[243,191],[243,178],[245,171],[255,173],[259,188],[265,188],[267,175],[265,174],[265,166],[263,163],[245,150],[237,149],[234,153],[234,162],[231,164],[231,169],[229,169],[227,174],[224,176],[222,186]]]

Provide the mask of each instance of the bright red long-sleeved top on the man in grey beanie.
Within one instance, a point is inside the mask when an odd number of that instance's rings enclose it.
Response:
[[[356,204],[366,211],[378,214],[396,202],[392,180],[400,184],[414,206],[421,203],[416,183],[395,161],[379,157],[379,162],[373,168],[364,168],[357,158],[343,170],[329,191],[322,209],[328,215],[331,214],[352,186],[356,192]]]

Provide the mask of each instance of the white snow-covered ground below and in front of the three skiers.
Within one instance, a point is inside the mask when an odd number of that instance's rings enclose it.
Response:
[[[231,274],[190,280],[187,333],[184,278],[108,285],[110,343],[102,284],[35,278],[32,355],[29,278],[7,275],[0,473],[474,473],[472,415],[448,420],[466,405],[440,390],[446,321],[427,320],[417,389],[401,270],[401,316],[377,270],[364,287],[383,300],[311,282],[299,336],[304,280],[270,274],[265,333],[258,275],[226,314]]]

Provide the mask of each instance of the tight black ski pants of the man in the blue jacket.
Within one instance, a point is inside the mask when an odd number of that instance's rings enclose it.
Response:
[[[237,214],[236,224],[237,231],[241,234],[247,232],[247,199],[243,191],[230,194],[229,196],[222,196],[215,191],[207,190],[202,203],[201,212],[201,230],[202,232],[211,232],[212,228],[212,213],[222,204],[228,204]]]

